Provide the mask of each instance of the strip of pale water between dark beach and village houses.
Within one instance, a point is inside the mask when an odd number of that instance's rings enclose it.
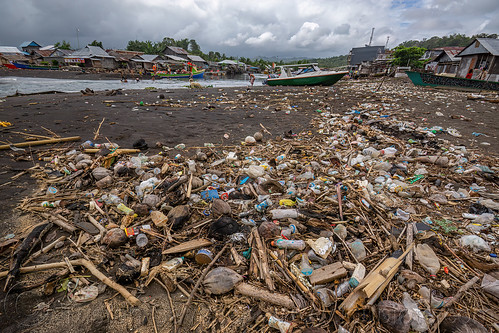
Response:
[[[248,87],[250,86],[249,77],[240,75],[234,78],[214,77],[197,79],[202,86],[212,86],[215,88],[226,87]],[[257,79],[255,86],[262,85],[263,79]],[[158,90],[168,89],[187,89],[189,81],[185,79],[161,79],[161,80],[141,80],[136,82],[130,79],[128,82],[115,80],[71,80],[71,79],[47,79],[34,77],[0,77],[0,98],[14,95],[17,92],[21,94],[41,93],[46,91],[60,92],[79,92],[85,88],[94,91],[104,91],[113,89],[123,90],[142,90],[154,87]]]

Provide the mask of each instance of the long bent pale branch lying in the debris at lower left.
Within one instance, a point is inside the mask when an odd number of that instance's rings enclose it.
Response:
[[[95,276],[97,279],[102,281],[104,284],[106,284],[108,287],[116,290],[119,292],[125,300],[130,303],[133,306],[138,306],[141,302],[139,299],[137,299],[135,296],[130,294],[128,290],[125,289],[122,285],[114,282],[104,274],[102,274],[97,267],[92,264],[89,260],[86,259],[76,259],[76,260],[70,260],[69,263],[73,266],[83,266],[86,269],[92,273],[93,276]],[[29,266],[29,267],[21,267],[20,271],[21,273],[30,273],[30,272],[37,272],[37,271],[42,271],[42,270],[47,270],[47,269],[52,269],[52,268],[66,268],[68,265],[65,261],[63,262],[56,262],[56,263],[51,263],[51,264],[43,264],[43,265],[34,265],[34,266]],[[6,277],[8,271],[0,272],[0,278]]]

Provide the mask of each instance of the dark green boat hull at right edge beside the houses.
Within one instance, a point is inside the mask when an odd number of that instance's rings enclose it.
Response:
[[[440,76],[413,71],[405,72],[415,86],[450,87],[476,90],[499,91],[499,82]]]

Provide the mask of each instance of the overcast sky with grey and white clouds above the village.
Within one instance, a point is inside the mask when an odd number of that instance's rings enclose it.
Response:
[[[0,45],[195,39],[232,56],[330,57],[369,42],[499,33],[499,0],[0,0]]]

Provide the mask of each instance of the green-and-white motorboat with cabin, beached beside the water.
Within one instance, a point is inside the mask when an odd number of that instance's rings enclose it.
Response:
[[[266,81],[269,86],[332,86],[345,74],[348,74],[347,71],[322,71],[317,66],[317,63],[282,65],[279,67],[281,68],[279,77],[269,75]],[[298,67],[299,70],[292,72],[293,67]]]

